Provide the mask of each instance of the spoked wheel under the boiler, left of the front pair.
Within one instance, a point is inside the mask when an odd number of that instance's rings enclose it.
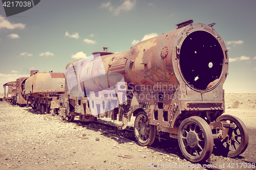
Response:
[[[156,126],[150,125],[144,112],[137,114],[134,123],[134,133],[141,145],[151,145],[156,137]]]

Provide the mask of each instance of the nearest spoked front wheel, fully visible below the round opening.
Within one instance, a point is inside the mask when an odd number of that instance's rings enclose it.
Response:
[[[183,120],[178,131],[182,154],[191,162],[207,160],[214,149],[214,137],[209,125],[199,116]]]

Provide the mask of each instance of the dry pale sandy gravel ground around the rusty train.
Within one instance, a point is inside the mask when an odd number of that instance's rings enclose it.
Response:
[[[247,126],[249,145],[236,159],[211,155],[205,163],[216,164],[219,169],[245,169],[245,165],[246,169],[255,169],[241,159],[256,162],[256,94],[226,94],[225,102],[225,114],[239,117]],[[0,169],[152,169],[153,164],[171,169],[199,169],[185,159],[120,142],[79,124],[64,123],[58,117],[6,102],[0,102],[0,129]],[[125,155],[131,157],[123,158]],[[229,163],[234,166],[228,167]],[[172,168],[175,165],[178,168]]]

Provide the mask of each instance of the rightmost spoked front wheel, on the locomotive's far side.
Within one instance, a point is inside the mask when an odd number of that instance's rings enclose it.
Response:
[[[225,156],[231,158],[242,154],[246,150],[249,142],[248,130],[242,120],[236,116],[224,114],[219,116],[216,119],[217,121],[236,125],[234,129],[230,128],[228,130],[229,140],[231,140],[230,144],[226,142],[228,138],[222,139],[221,141],[217,140],[215,142],[217,149],[220,149],[222,153],[224,152],[226,154]]]

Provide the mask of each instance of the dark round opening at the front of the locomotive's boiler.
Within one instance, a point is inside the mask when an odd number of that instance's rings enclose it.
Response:
[[[197,89],[207,89],[219,79],[223,52],[218,40],[210,33],[196,31],[189,34],[180,49],[180,68],[183,77]]]

